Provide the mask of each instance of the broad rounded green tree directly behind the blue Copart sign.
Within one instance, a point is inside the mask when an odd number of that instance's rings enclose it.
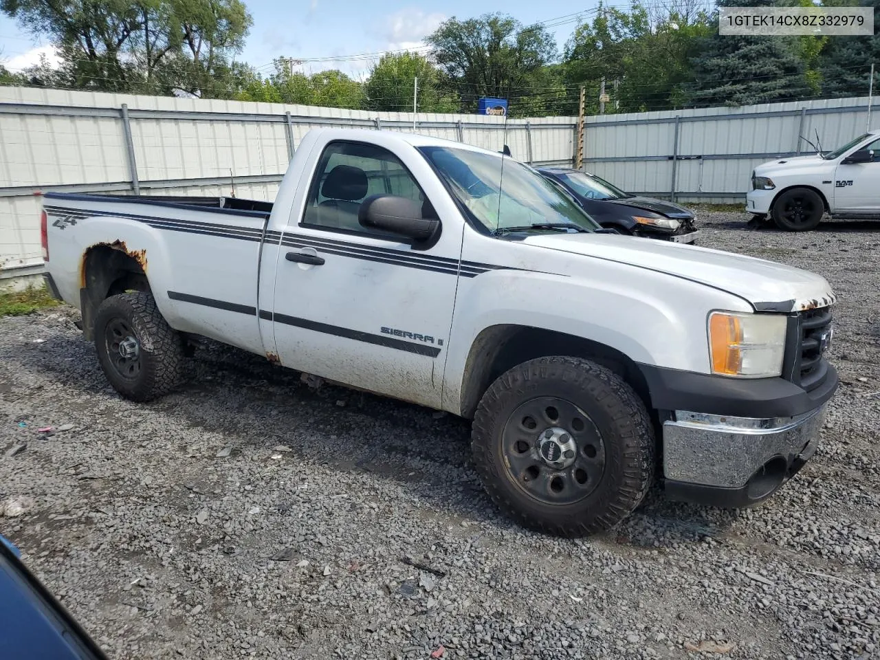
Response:
[[[545,91],[540,89],[544,69],[556,56],[554,38],[545,27],[524,27],[497,13],[450,18],[425,42],[443,73],[444,88],[458,93],[462,109],[469,112],[482,96],[510,96],[510,114],[524,114],[520,101]]]

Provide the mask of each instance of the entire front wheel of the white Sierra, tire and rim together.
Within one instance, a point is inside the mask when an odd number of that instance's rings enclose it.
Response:
[[[495,380],[477,407],[472,449],[505,514],[565,537],[619,523],[654,473],[642,400],[612,371],[573,357],[530,360]]]

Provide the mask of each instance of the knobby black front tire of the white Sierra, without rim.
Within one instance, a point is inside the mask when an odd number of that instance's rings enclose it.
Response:
[[[521,405],[545,397],[583,410],[605,444],[605,471],[579,502],[541,502],[525,493],[508,469],[505,424]],[[654,477],[656,442],[644,403],[611,370],[574,357],[541,357],[497,378],[477,407],[471,447],[484,487],[503,513],[539,532],[569,538],[618,524],[642,502]]]

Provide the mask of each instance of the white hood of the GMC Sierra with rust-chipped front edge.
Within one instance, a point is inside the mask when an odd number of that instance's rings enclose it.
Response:
[[[835,301],[821,275],[774,261],[613,234],[530,236],[524,243],[682,277],[744,298],[759,312],[799,312]]]

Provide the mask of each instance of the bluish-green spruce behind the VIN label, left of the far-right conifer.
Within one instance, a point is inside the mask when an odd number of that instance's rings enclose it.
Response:
[[[772,0],[719,0],[722,7],[770,7]],[[687,102],[694,106],[745,106],[796,100],[811,95],[807,66],[796,37],[721,36],[700,40],[694,55],[693,84]]]

